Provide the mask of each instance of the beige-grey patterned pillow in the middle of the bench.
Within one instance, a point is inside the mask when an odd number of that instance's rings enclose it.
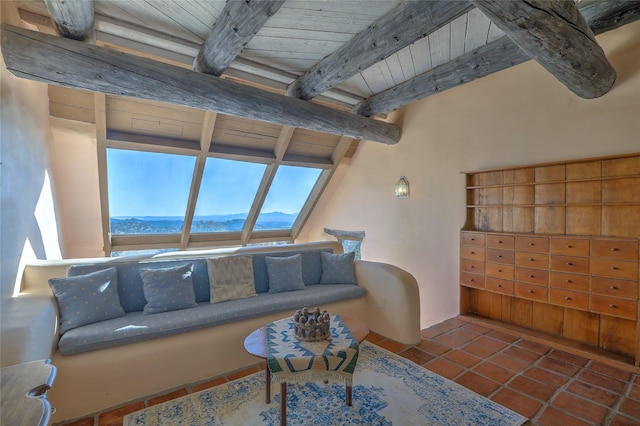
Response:
[[[256,296],[251,256],[207,259],[211,303]]]

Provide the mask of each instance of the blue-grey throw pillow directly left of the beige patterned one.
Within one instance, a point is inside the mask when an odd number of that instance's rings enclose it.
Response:
[[[193,291],[193,264],[164,269],[142,269],[142,289],[147,304],[145,314],[193,308],[196,303]]]

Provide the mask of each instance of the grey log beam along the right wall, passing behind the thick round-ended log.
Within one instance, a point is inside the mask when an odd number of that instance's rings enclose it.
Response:
[[[640,19],[640,1],[589,0],[578,3],[578,7],[596,35]],[[356,105],[353,111],[367,117],[389,112],[530,59],[504,36],[373,95]]]

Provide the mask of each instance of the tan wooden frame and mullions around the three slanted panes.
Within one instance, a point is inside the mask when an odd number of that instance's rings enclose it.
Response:
[[[96,104],[99,102],[100,97],[96,100]],[[102,96],[102,102],[104,102],[104,95]],[[335,148],[331,160],[290,155],[287,154],[286,151],[295,129],[284,126],[273,151],[256,152],[255,150],[243,150],[239,148],[221,152],[221,150],[213,149],[211,145],[211,134],[213,132],[215,116],[215,113],[205,112],[203,136],[199,146],[192,141],[171,141],[164,138],[158,140],[144,138],[140,141],[132,141],[130,139],[123,140],[123,138],[119,138],[117,134],[110,134],[107,131],[106,119],[97,120],[98,172],[105,256],[110,256],[112,251],[121,252],[149,249],[178,249],[184,251],[193,249],[246,246],[248,244],[273,243],[280,241],[288,241],[290,243],[295,242],[302,230],[302,227],[313,210],[313,207],[316,205],[319,197],[326,188],[327,183],[335,172],[338,164],[342,158],[344,158],[344,155],[353,142],[353,139],[347,137],[341,138]],[[106,163],[106,151],[108,148],[180,154],[196,157],[187,203],[187,211],[181,234],[111,234]],[[245,221],[244,228],[241,232],[191,233],[191,225],[197,203],[197,196],[202,182],[204,165],[207,158],[239,160],[266,164],[267,166]],[[260,209],[262,208],[271,183],[273,182],[273,178],[280,165],[316,168],[321,169],[321,172],[291,229],[254,230]]]

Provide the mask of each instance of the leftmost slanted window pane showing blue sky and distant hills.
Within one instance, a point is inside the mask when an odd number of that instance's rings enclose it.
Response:
[[[108,148],[111,234],[180,233],[194,166],[193,156]]]

